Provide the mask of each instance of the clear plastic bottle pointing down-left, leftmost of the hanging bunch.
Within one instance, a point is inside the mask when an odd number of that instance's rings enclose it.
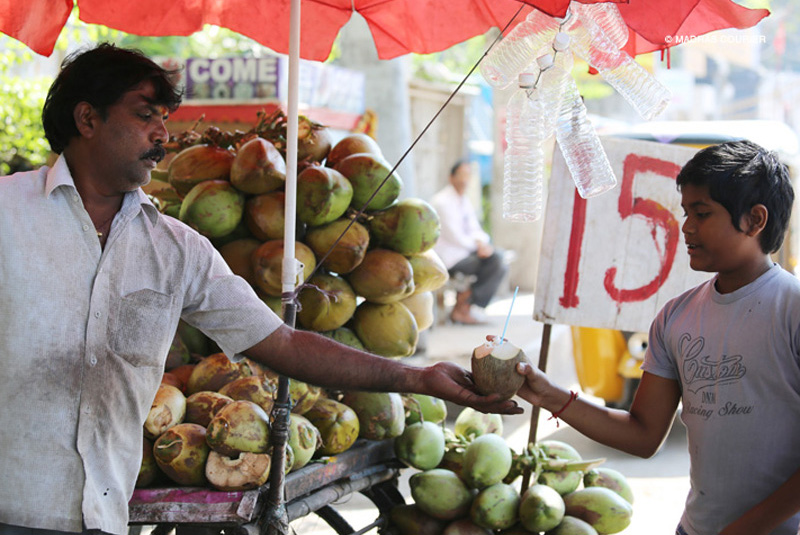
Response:
[[[559,19],[533,9],[483,58],[480,64],[483,77],[494,87],[510,86],[536,60],[542,47],[550,44],[559,24]]]

